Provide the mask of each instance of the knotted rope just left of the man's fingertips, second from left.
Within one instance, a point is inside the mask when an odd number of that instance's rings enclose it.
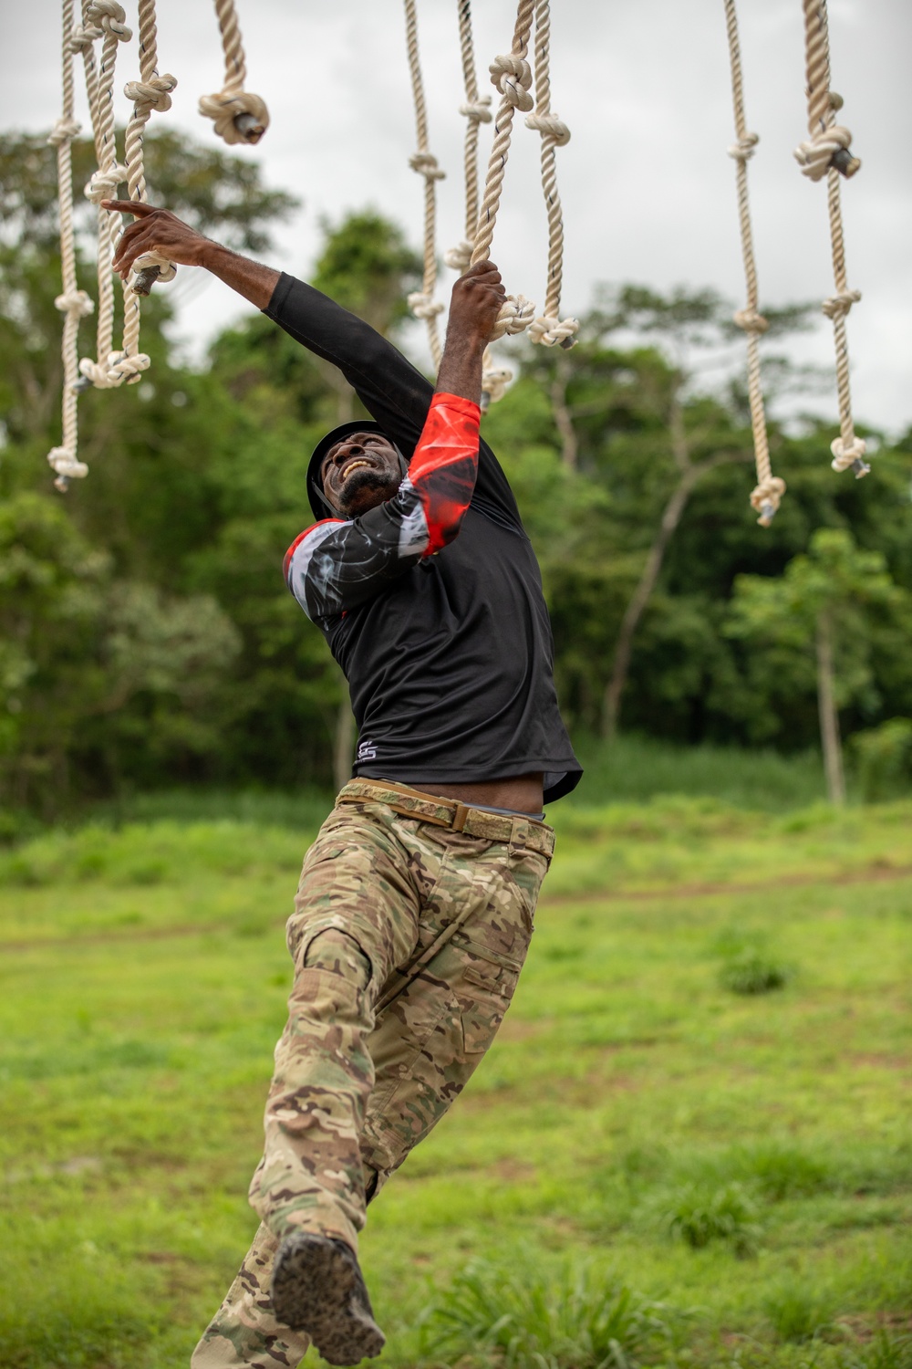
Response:
[[[127,179],[127,168],[118,163],[113,127],[113,75],[118,48],[122,42],[129,42],[133,31],[124,23],[123,5],[118,0],[90,0],[83,4],[82,30],[74,34],[74,44],[78,42],[86,56],[89,103],[92,107],[92,125],[94,130],[94,144],[98,155],[98,170],[94,171],[85,193],[89,200],[98,205],[98,315],[96,335],[96,356],[83,357],[79,361],[82,382],[78,387],[94,385],[105,390],[122,383],[122,376],[112,372],[111,364],[119,356],[112,355],[113,344],[113,272],[111,261],[118,238],[120,237],[120,215],[111,214],[101,208],[101,200],[116,199],[118,188]],[[86,41],[92,42],[94,34],[101,37],[101,56],[97,71],[94,59],[86,48]]]

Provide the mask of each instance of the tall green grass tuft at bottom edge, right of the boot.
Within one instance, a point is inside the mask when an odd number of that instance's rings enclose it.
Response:
[[[669,1339],[669,1309],[592,1266],[556,1277],[474,1261],[425,1320],[428,1351],[503,1369],[636,1369]]]

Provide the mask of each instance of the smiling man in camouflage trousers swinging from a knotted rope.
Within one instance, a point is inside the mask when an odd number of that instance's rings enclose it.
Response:
[[[366,323],[293,277],[135,215],[149,251],[201,266],[339,367],[375,422],[317,446],[317,523],[289,589],[345,671],[354,779],[308,852],[289,920],[294,987],[276,1046],[260,1229],[193,1369],[376,1355],[357,1261],[366,1203],[480,1062],[525,960],[554,850],[543,804],[580,778],[558,712],[535,553],[479,438],[481,356],[505,298],[492,263],[453,287],[436,390]]]

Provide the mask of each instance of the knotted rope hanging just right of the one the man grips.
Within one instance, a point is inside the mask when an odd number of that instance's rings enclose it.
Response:
[[[562,319],[561,283],[563,279],[563,215],[558,194],[558,168],[555,148],[563,148],[570,141],[570,130],[551,111],[551,5],[548,0],[537,0],[535,12],[535,114],[525,123],[541,134],[541,190],[548,214],[548,281],[543,314],[529,326],[529,337],[543,346],[559,344],[572,348],[578,333],[577,319]]]

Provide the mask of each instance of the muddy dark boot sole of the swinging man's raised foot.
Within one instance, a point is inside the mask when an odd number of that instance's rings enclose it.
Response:
[[[331,1236],[284,1238],[272,1269],[272,1310],[286,1327],[306,1331],[331,1365],[357,1365],[386,1343],[354,1251]]]

